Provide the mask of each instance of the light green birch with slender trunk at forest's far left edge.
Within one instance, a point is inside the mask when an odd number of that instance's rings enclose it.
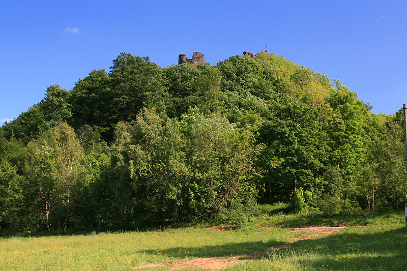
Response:
[[[10,171],[12,168],[6,167],[8,172],[14,172],[14,177],[5,185],[9,191],[5,199],[18,199],[18,204],[5,204],[7,212],[14,215],[8,216],[13,220],[7,229],[20,232],[65,229],[76,195],[82,189],[84,178],[79,164],[82,156],[74,131],[67,124],[29,142],[22,157],[17,158],[21,175],[16,168]]]

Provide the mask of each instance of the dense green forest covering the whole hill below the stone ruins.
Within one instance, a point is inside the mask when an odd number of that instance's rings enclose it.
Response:
[[[282,56],[161,68],[121,53],[0,129],[0,231],[396,208],[403,147],[399,115]]]

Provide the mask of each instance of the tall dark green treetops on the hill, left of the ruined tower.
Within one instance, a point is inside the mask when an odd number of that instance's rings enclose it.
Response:
[[[112,140],[119,121],[134,121],[143,106],[164,113],[166,97],[162,69],[149,57],[121,53],[113,60],[110,73],[93,70],[75,84],[69,102],[73,126],[103,128],[103,139]]]

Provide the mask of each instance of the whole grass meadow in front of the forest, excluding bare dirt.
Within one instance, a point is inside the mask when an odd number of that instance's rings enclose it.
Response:
[[[335,219],[329,219],[330,223],[343,223]],[[303,226],[316,220],[316,217],[266,214],[237,230],[187,227],[145,232],[2,238],[0,270],[133,270],[133,267],[151,263],[168,265],[141,270],[172,270],[175,267],[171,263],[222,256],[225,261],[230,261],[230,255],[240,256],[237,264],[226,266],[226,270],[407,269],[404,214],[361,218],[367,226],[347,226],[329,235],[312,236],[312,239],[302,238],[315,232],[277,228],[287,224]],[[323,218],[319,222],[315,225],[329,224]],[[270,249],[293,240],[298,241]],[[256,259],[251,257],[255,252],[259,252]],[[202,269],[192,266],[177,270]]]

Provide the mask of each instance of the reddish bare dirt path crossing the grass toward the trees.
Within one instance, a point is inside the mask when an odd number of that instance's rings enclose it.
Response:
[[[242,254],[242,255],[231,255],[231,256],[224,256],[224,257],[212,257],[212,258],[196,258],[192,260],[186,260],[181,262],[173,262],[173,263],[150,263],[146,265],[140,265],[133,267],[132,269],[143,269],[143,268],[154,268],[154,267],[167,267],[172,266],[172,270],[178,270],[182,268],[202,268],[206,270],[221,270],[223,268],[233,266],[248,260],[257,259],[258,256],[267,253],[268,251],[278,250],[283,247],[287,247],[295,242],[300,240],[307,240],[316,238],[319,236],[326,236],[331,233],[337,232],[344,227],[311,227],[311,228],[296,228],[294,230],[287,231],[285,233],[290,232],[299,232],[299,231],[307,231],[310,234],[305,234],[299,237],[293,237],[291,240],[283,245],[270,247],[267,250],[263,251],[256,251],[250,254]]]

